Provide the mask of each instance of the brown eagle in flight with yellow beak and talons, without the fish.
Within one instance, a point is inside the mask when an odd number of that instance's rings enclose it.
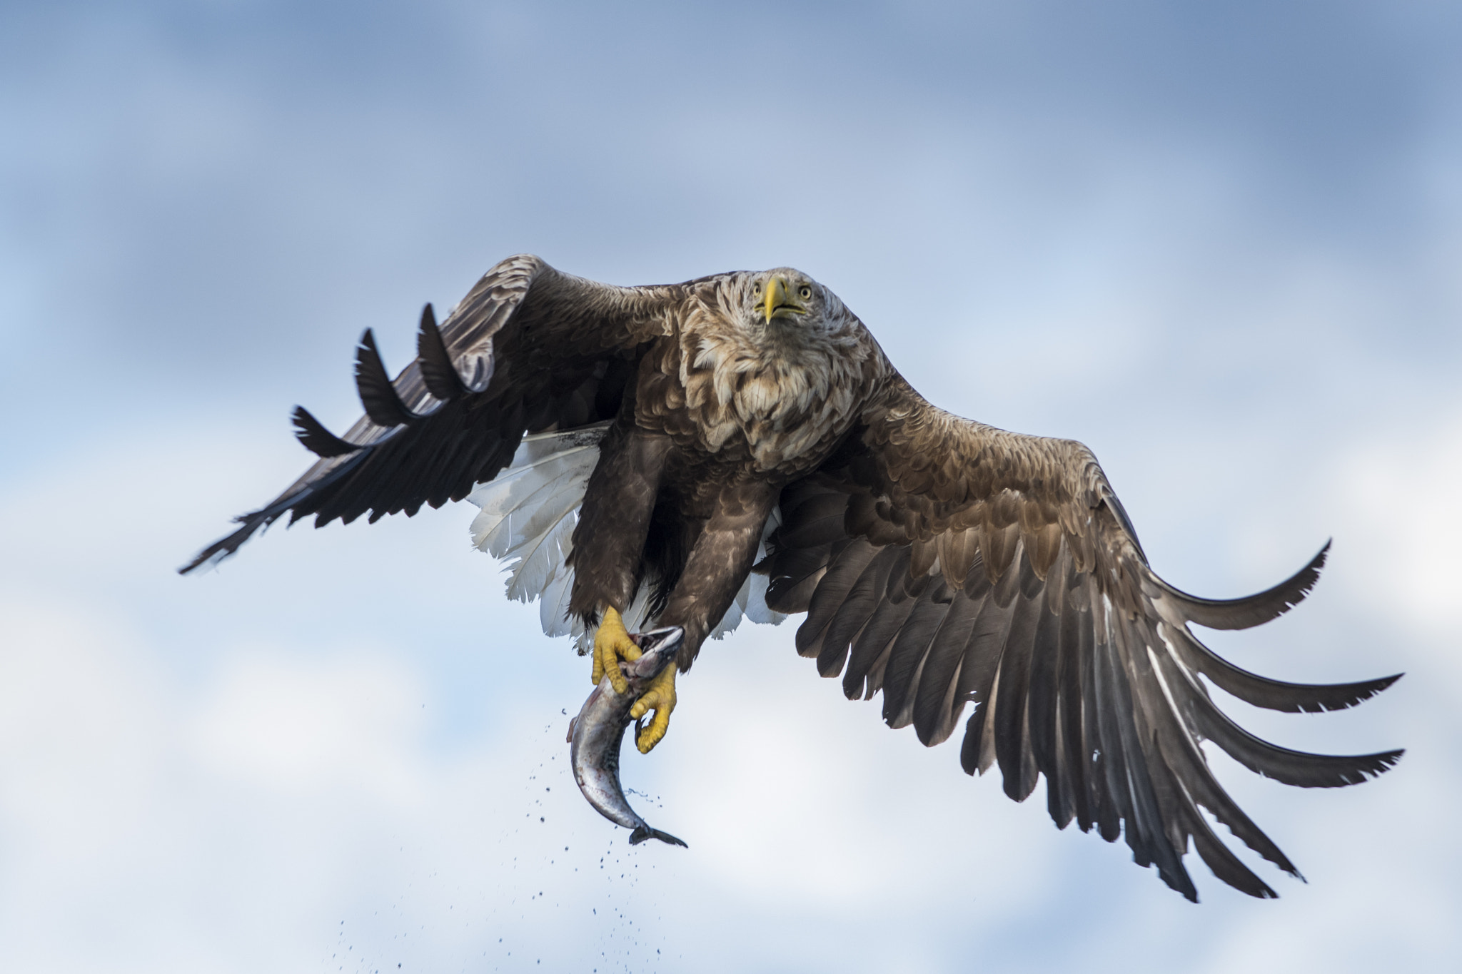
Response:
[[[621,288],[509,257],[442,326],[425,305],[417,358],[395,378],[367,329],[355,383],[366,415],[341,437],[297,407],[295,435],[319,459],[181,572],[287,514],[319,527],[469,498],[475,543],[509,559],[509,594],[541,600],[545,632],[592,653],[595,683],[623,680],[630,631],[684,629],[677,666],[635,704],[652,714],[642,752],[708,638],[806,613],[797,651],[849,699],[882,692],[883,720],[927,746],[972,704],[965,772],[999,765],[1018,802],[1044,777],[1057,827],[1126,838],[1193,901],[1190,843],[1225,883],[1276,895],[1199,809],[1300,876],[1202,742],[1300,787],[1355,784],[1401,758],[1289,751],[1209,695],[1316,713],[1399,679],[1278,682],[1193,634],[1281,615],[1329,545],[1244,599],[1174,588],[1091,450],[930,404],[835,294],[791,267]]]

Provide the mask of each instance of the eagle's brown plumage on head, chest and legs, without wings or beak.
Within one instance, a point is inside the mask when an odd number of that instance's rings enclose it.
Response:
[[[889,371],[836,298],[814,295],[826,307],[810,323],[759,320],[754,286],[751,275],[684,286],[626,384],[573,534],[572,610],[623,607],[648,575],[652,615],[686,629],[681,670],[751,570],[781,489],[836,448]]]

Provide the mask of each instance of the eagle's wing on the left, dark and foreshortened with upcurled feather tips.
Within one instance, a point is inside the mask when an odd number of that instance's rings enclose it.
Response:
[[[366,416],[336,437],[295,409],[297,435],[320,460],[178,571],[227,558],[285,513],[323,526],[459,501],[512,461],[525,432],[613,418],[683,292],[613,288],[519,256],[482,275],[440,329],[427,305],[417,359],[395,381],[367,330],[355,355]]]

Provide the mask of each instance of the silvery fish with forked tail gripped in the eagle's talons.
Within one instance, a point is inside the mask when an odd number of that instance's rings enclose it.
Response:
[[[645,692],[652,679],[667,666],[674,666],[675,654],[686,638],[678,625],[630,635],[642,654],[637,660],[620,662],[620,672],[629,679],[629,692],[618,694],[608,673],[583,701],[579,716],[569,723],[569,762],[573,780],[594,810],[616,825],[635,829],[630,845],[639,845],[646,838],[658,838],[671,845],[686,845],[681,840],[649,824],[630,808],[620,784],[620,745],[624,729],[630,726],[630,708]]]

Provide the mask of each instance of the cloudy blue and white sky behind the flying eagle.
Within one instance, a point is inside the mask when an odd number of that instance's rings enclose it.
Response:
[[[1462,13],[1417,3],[0,7],[0,962],[10,971],[1374,971],[1462,949]],[[469,505],[174,570],[515,253],[795,266],[931,402],[1086,442],[1203,638],[1405,670],[1211,761],[1304,883],[1202,902],[743,626],[624,777]],[[1452,920],[1447,920],[1452,917]]]

